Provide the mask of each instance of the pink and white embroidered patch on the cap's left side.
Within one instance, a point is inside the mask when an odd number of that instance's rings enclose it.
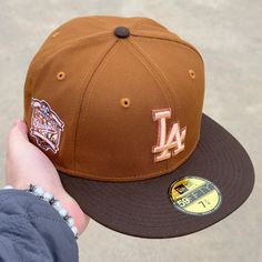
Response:
[[[32,98],[32,118],[30,134],[43,150],[59,151],[61,132],[64,123],[44,100]]]

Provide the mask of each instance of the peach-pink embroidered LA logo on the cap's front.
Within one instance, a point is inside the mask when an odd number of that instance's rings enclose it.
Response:
[[[167,119],[171,118],[171,109],[152,110],[153,121],[159,122],[158,144],[153,145],[154,162],[170,159],[184,150],[187,127],[180,130],[180,124],[173,123],[167,138]]]

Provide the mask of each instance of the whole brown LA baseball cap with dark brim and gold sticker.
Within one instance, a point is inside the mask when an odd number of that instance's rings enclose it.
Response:
[[[203,113],[203,98],[200,52],[159,22],[81,17],[30,63],[24,121],[90,218],[174,238],[224,219],[254,184],[246,151]]]

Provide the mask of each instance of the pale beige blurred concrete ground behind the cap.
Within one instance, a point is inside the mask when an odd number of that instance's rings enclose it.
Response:
[[[250,153],[256,183],[233,214],[198,233],[169,240],[127,236],[91,221],[80,261],[262,261],[261,0],[0,1],[0,173],[8,131],[23,114],[28,64],[46,37],[78,16],[150,17],[194,44],[205,61],[204,111]]]

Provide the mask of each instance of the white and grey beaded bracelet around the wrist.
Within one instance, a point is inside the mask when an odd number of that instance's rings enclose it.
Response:
[[[6,185],[2,189],[14,189],[14,188],[12,185]],[[24,191],[30,192],[34,194],[37,198],[50,203],[63,218],[64,222],[69,225],[69,228],[72,230],[74,238],[75,239],[79,238],[79,232],[78,229],[74,226],[73,218],[68,214],[68,211],[62,208],[60,201],[58,199],[54,199],[54,195],[52,193],[47,192],[41,187],[31,183],[29,184],[29,188],[26,189]]]

